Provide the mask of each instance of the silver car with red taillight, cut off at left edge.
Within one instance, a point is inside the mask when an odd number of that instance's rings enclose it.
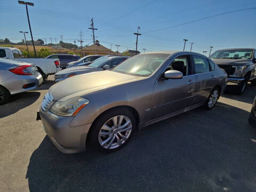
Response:
[[[0,58],[0,105],[11,95],[36,89],[43,82],[35,65]]]

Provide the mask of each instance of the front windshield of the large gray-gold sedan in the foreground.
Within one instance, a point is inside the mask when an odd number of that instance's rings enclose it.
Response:
[[[150,76],[170,54],[138,54],[116,66],[113,71],[137,76]]]

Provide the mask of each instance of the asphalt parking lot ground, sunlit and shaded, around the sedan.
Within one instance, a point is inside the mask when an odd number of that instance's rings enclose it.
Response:
[[[62,154],[35,121],[52,84],[0,106],[0,191],[256,191],[256,87],[148,126],[115,153]]]

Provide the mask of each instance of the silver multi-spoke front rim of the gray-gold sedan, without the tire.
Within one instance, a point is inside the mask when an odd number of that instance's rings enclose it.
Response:
[[[110,118],[100,129],[99,143],[105,149],[115,149],[130,137],[132,132],[131,120],[123,115]]]

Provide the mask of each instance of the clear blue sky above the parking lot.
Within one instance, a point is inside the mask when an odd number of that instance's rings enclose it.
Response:
[[[256,7],[255,0],[214,0],[214,1],[170,1],[170,0],[130,0],[130,1],[33,1],[29,6],[30,23],[34,38],[46,38],[47,43],[78,40],[83,33],[84,45],[92,42],[90,20],[93,17],[95,32],[100,43],[116,51],[135,48],[137,26],[140,26],[138,49],[148,51],[183,50],[183,39],[189,41],[186,50],[200,52],[233,47],[256,48],[256,9],[234,12],[178,27],[181,23],[210,17],[229,11]],[[19,42],[23,38],[20,30],[29,31],[25,5],[18,0],[0,1],[0,38],[10,38]],[[3,19],[4,18],[4,19]],[[158,31],[152,31],[158,30]],[[27,36],[30,39],[29,35]],[[111,43],[111,44],[110,44]]]

